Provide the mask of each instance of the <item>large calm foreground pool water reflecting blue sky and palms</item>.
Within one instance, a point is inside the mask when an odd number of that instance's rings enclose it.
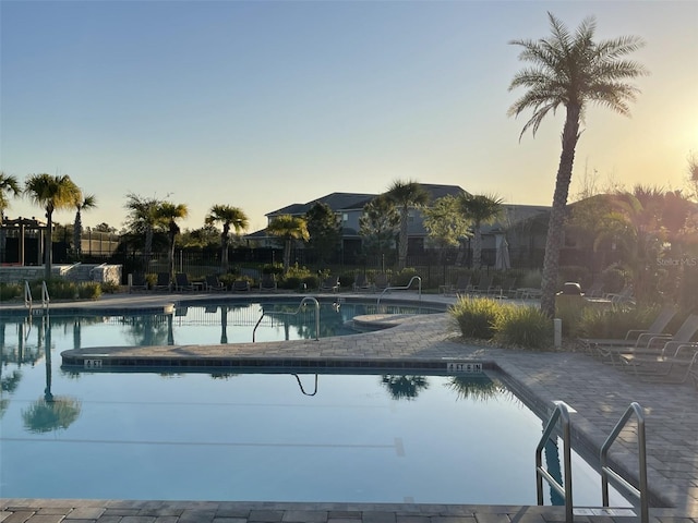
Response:
[[[3,349],[2,497],[535,504],[544,424],[495,374],[68,373],[52,346]]]

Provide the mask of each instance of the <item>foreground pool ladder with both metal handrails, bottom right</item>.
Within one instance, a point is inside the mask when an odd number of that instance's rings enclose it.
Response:
[[[555,410],[553,411],[543,435],[541,437],[538,447],[535,448],[535,491],[538,495],[538,504],[543,504],[543,479],[545,479],[553,489],[559,494],[565,500],[565,521],[566,523],[573,523],[573,497],[571,497],[571,423],[569,421],[569,413],[575,412],[570,410],[564,402],[556,402]],[[628,419],[635,414],[637,417],[637,443],[638,443],[638,457],[640,461],[639,467],[639,488],[628,483],[616,471],[614,471],[609,464],[609,449],[616,440],[621,430],[625,427]],[[562,424],[562,437],[564,445],[563,460],[565,466],[564,485],[561,485],[552,474],[543,469],[542,465],[542,452],[545,443],[550,439],[553,429],[556,427],[557,422]],[[642,408],[633,402],[625,411],[625,414],[621,417],[615,425],[604,443],[601,446],[601,496],[604,508],[609,507],[609,479],[612,479],[616,485],[622,486],[625,490],[631,494],[635,498],[639,499],[640,503],[640,522],[649,522],[649,490],[647,487],[647,450],[645,442],[645,413]]]

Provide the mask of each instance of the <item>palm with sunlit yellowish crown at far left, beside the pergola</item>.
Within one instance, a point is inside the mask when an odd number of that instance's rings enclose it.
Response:
[[[51,278],[51,264],[53,259],[51,253],[51,246],[53,244],[53,211],[70,209],[80,194],[80,188],[68,174],[31,174],[24,183],[24,194],[26,194],[34,204],[46,209],[44,278],[49,280]]]

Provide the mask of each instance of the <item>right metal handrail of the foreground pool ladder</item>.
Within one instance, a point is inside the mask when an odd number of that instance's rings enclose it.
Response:
[[[621,475],[615,472],[611,465],[609,465],[609,449],[611,445],[621,434],[621,430],[625,427],[625,424],[635,414],[637,417],[637,446],[640,460],[640,485],[639,489],[634,485],[625,481]],[[640,521],[647,523],[649,521],[649,491],[647,487],[647,449],[645,445],[645,412],[637,402],[630,403],[630,405],[623,414],[623,417],[615,425],[613,431],[609,435],[603,446],[601,446],[601,495],[603,498],[603,506],[609,507],[609,479],[613,479],[617,485],[625,487],[625,489],[640,500]]]

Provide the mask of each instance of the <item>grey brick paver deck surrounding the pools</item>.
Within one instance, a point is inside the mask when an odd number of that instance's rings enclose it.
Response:
[[[195,297],[204,296],[116,294],[104,296],[98,302],[52,303],[51,311],[76,307],[91,311],[141,309]],[[300,300],[302,296],[291,297]],[[414,300],[417,295],[400,293],[396,297]],[[450,300],[443,296],[424,299],[441,303],[449,303]],[[7,304],[0,305],[0,314],[7,308]],[[698,522],[698,402],[693,385],[646,384],[581,353],[526,352],[464,344],[457,339],[446,315],[402,318],[398,324],[388,330],[320,341],[131,348],[130,351],[131,356],[144,360],[167,353],[171,355],[189,352],[196,357],[249,357],[269,363],[284,360],[351,361],[369,366],[372,362],[395,362],[396,367],[404,362],[416,366],[438,361],[493,362],[517,384],[517,394],[534,411],[551,412],[553,401],[556,400],[570,404],[577,411],[573,415],[575,430],[597,448],[630,402],[636,401],[642,405],[647,415],[648,476],[654,495],[652,506],[665,507],[652,508],[651,519],[663,523]],[[100,348],[92,352],[121,350]],[[616,445],[616,453],[614,455],[612,452],[612,455],[628,471],[637,470],[637,442],[634,434],[624,434],[624,438]],[[531,449],[531,457],[533,450]],[[531,474],[533,481],[533,464]],[[59,523],[64,520],[99,523],[505,523],[565,519],[562,507],[60,499],[1,499],[0,503],[0,523]],[[638,519],[627,515],[576,515],[575,521]]]

